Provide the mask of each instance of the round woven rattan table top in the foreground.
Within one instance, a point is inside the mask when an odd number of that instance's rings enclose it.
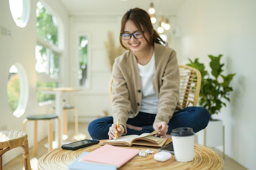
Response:
[[[43,155],[38,161],[39,170],[67,170],[67,167],[81,155],[82,152],[92,152],[93,150],[101,147],[99,144],[81,148],[79,150],[64,150],[62,148],[54,149],[51,152]],[[171,139],[166,141],[168,144]],[[118,146],[125,148],[134,148],[141,151],[146,149],[154,150],[158,152],[158,147],[149,146]],[[140,157],[139,155],[132,158],[124,166],[118,168],[118,170],[223,170],[224,161],[213,150],[194,144],[194,159],[191,162],[178,162],[175,160],[175,156],[172,155],[171,159],[166,162],[159,162],[154,159],[154,154],[147,154],[146,157]]]

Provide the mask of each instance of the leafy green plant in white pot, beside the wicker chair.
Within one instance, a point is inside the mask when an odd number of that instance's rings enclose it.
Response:
[[[209,110],[211,114],[207,128],[198,133],[198,143],[208,147],[222,145],[224,154],[224,126],[222,120],[213,119],[212,115],[218,114],[220,109],[226,106],[225,102],[230,101],[229,95],[233,91],[230,82],[236,74],[223,75],[224,64],[220,63],[222,55],[208,55],[208,57],[211,59],[209,63],[211,71],[207,71],[204,64],[200,63],[198,58],[194,61],[189,59],[190,63],[186,64],[200,71],[202,82],[198,103],[200,106]]]

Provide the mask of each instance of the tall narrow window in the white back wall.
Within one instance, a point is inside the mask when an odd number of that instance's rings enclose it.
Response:
[[[88,84],[88,37],[79,37],[79,85],[85,87]]]

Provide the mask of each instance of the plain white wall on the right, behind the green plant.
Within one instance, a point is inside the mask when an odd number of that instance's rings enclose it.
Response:
[[[255,0],[188,0],[177,13],[179,62],[207,64],[207,55],[223,54],[225,73],[236,73],[231,102],[216,118],[224,121],[226,154],[249,170],[256,169],[255,7]]]

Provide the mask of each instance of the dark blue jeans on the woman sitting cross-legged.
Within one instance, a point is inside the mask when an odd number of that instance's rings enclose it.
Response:
[[[139,112],[136,117],[128,119],[127,124],[142,127],[142,130],[127,128],[126,135],[141,135],[142,133],[153,132],[153,122],[155,121],[155,116],[156,115],[154,114]],[[169,127],[167,134],[171,134],[173,129],[180,127],[193,128],[194,132],[198,132],[206,128],[210,117],[211,115],[209,111],[203,107],[184,108],[183,110],[173,114],[173,117],[168,123]],[[108,139],[108,130],[112,124],[113,117],[101,117],[89,124],[88,132],[92,139]]]

